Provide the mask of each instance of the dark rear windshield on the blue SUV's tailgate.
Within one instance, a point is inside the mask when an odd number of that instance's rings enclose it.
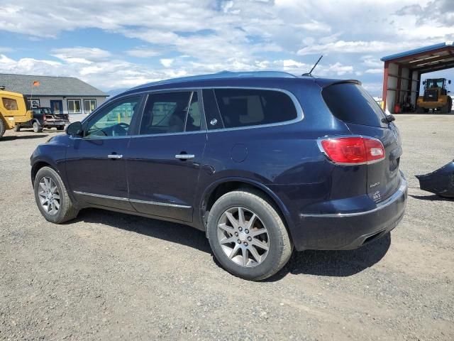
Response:
[[[360,85],[331,85],[323,89],[321,94],[333,115],[342,121],[366,126],[387,126],[382,122],[385,117],[382,108]]]

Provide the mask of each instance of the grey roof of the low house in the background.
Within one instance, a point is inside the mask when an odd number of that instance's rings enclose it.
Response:
[[[107,97],[108,94],[96,87],[82,82],[74,77],[52,77],[33,75],[12,75],[0,73],[0,86],[5,90],[20,92],[26,96],[31,95],[33,82],[40,82],[38,87],[33,87],[33,96],[100,96]]]

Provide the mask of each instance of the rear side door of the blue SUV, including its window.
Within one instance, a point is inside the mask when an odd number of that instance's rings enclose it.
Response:
[[[148,94],[126,161],[129,198],[138,212],[192,221],[206,144],[199,93]]]

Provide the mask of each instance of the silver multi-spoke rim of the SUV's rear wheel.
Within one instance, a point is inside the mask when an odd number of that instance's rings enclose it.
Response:
[[[218,242],[233,263],[258,266],[270,249],[270,237],[260,217],[245,207],[232,207],[218,221]]]

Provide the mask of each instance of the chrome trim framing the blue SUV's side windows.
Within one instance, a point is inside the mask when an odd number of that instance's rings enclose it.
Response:
[[[295,109],[297,110],[297,118],[295,119],[291,119],[289,121],[282,121],[282,122],[277,122],[277,123],[270,123],[270,124],[255,124],[253,126],[238,126],[238,127],[233,127],[233,128],[221,128],[221,129],[208,129],[208,126],[206,128],[206,131],[203,131],[203,132],[217,132],[217,131],[228,131],[228,130],[243,130],[243,129],[256,129],[256,128],[268,128],[270,126],[284,126],[284,125],[287,125],[287,124],[294,124],[294,123],[297,123],[299,121],[302,121],[304,119],[304,112],[303,112],[303,108],[301,107],[301,104],[299,103],[297,97],[293,94],[293,92],[290,92],[289,90],[286,90],[286,89],[282,89],[282,88],[279,88],[279,87],[238,87],[238,86],[212,86],[212,87],[174,87],[174,88],[170,88],[170,89],[157,89],[157,90],[143,90],[143,91],[140,91],[140,92],[134,92],[134,93],[131,93],[131,94],[125,94],[124,96],[121,96],[121,97],[118,97],[116,98],[116,100],[118,99],[122,99],[123,97],[131,97],[131,96],[134,96],[134,95],[138,95],[138,94],[147,94],[147,95],[150,95],[150,94],[155,94],[155,93],[165,93],[165,92],[175,92],[175,91],[192,91],[192,92],[196,92],[197,90],[216,90],[216,89],[244,89],[244,90],[268,90],[268,91],[277,91],[277,92],[283,92],[284,94],[287,94],[287,96],[290,97],[290,99],[292,99],[292,102],[294,104],[294,107]],[[148,96],[147,96],[147,99],[145,99],[145,101],[148,100]],[[203,101],[203,97],[201,97],[201,100]],[[203,105],[203,102],[202,102],[202,105]],[[97,109],[100,109],[104,106],[104,103],[103,105],[101,105],[101,107],[98,107]],[[142,113],[143,115],[143,113]],[[206,120],[206,114],[205,114],[205,110],[204,110],[204,117],[205,117],[205,120]],[[87,119],[88,117],[86,117],[85,119]],[[84,120],[85,120],[84,119]],[[142,119],[142,117],[140,118]],[[222,119],[222,117],[221,117]],[[208,122],[206,122],[206,124],[208,124]],[[197,131],[199,132],[199,131]],[[166,134],[149,134],[149,135],[131,135],[131,137],[135,137],[135,136],[164,136],[164,135],[175,135],[175,134],[192,134],[194,133],[194,131],[181,131],[181,132],[178,132],[178,133],[166,133]]]

